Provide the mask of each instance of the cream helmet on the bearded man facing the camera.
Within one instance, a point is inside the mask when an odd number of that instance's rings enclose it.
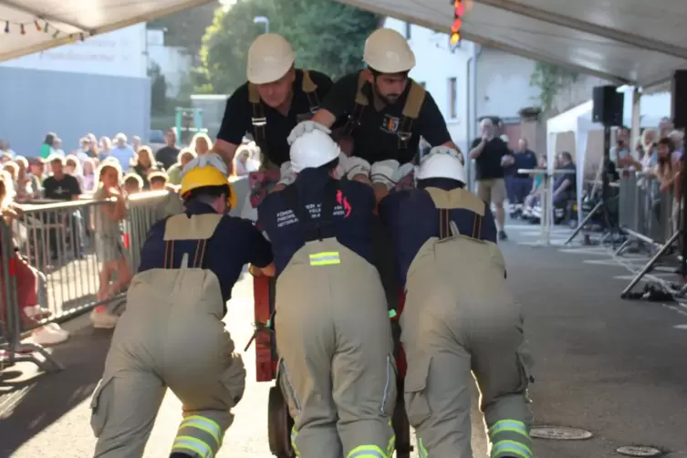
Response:
[[[365,40],[363,60],[380,73],[401,73],[415,67],[415,55],[396,30],[378,28]]]

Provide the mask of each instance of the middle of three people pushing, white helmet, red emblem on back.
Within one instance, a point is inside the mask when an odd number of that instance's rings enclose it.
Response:
[[[389,458],[396,371],[389,313],[371,264],[375,200],[357,158],[338,168],[326,132],[291,145],[286,188],[258,224],[275,252],[276,348],[294,450],[317,458]],[[351,179],[339,182],[338,170]]]

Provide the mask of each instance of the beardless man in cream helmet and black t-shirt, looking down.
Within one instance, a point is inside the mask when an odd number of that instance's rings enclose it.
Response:
[[[332,82],[326,75],[294,67],[291,45],[283,36],[258,36],[248,50],[248,81],[226,101],[214,151],[227,163],[246,133],[262,151],[263,167],[278,170],[288,161],[286,137],[297,122],[319,109]]]

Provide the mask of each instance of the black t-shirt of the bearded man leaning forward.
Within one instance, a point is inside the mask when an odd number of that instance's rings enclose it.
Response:
[[[358,73],[351,73],[339,79],[322,102],[322,108],[341,118],[347,118],[355,109],[356,94],[358,92]],[[439,146],[451,141],[451,135],[446,128],[442,112],[437,107],[429,92],[424,95],[424,101],[417,120],[412,122],[412,136],[406,143],[406,148],[399,151],[398,129],[401,126],[403,108],[408,93],[411,91],[412,80],[393,105],[387,105],[380,111],[375,109],[372,87],[366,84],[362,91],[368,97],[369,105],[362,111],[359,126],[353,130],[353,154],[374,163],[395,159],[401,163],[412,161],[418,152],[420,137],[432,146]]]

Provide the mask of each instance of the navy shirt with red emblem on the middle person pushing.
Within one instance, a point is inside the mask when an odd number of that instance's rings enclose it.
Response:
[[[296,186],[301,204],[307,206],[312,218],[318,216],[322,194],[330,180],[329,174],[321,169],[306,169],[298,174]],[[346,246],[372,263],[370,226],[375,217],[374,192],[370,186],[360,182],[338,182],[340,194],[334,205],[332,229],[338,243]],[[268,194],[257,207],[257,224],[265,231],[275,253],[275,267],[279,275],[296,252],[306,245],[306,233],[297,216],[286,203],[282,192]]]

